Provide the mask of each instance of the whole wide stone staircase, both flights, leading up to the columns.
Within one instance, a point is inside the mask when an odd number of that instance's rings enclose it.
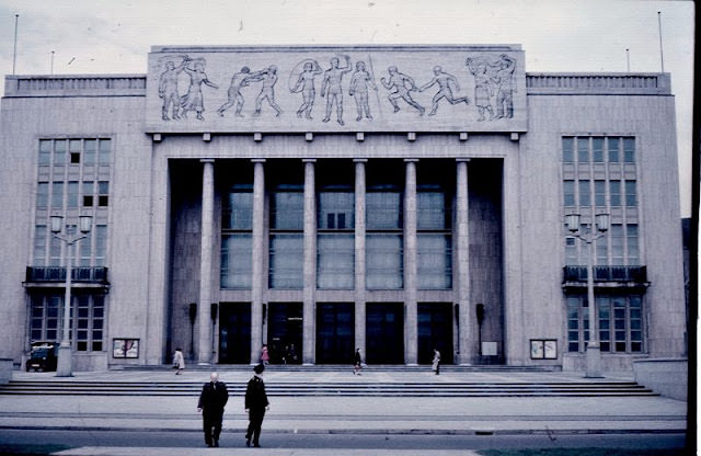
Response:
[[[154,366],[153,369],[165,371],[165,366]],[[210,371],[211,366],[195,366],[188,371]],[[276,372],[320,372],[347,373],[347,378],[335,379],[332,376],[300,376],[298,379],[276,379],[266,383],[267,394],[277,397],[640,397],[659,396],[635,381],[622,379],[558,379],[543,372],[554,369],[524,368],[509,366],[446,366],[443,373],[449,372],[482,372],[508,374],[543,373],[529,379],[482,381],[451,381],[445,377],[436,377],[430,381],[421,380],[378,380],[366,377],[354,377],[348,366],[274,366]],[[416,372],[426,373],[426,366],[372,366],[364,369],[366,374],[382,372]],[[137,371],[128,368],[127,371]],[[143,372],[143,366],[139,371]],[[217,371],[250,372],[251,366],[217,366]],[[506,375],[507,377],[508,375]],[[203,376],[204,378],[205,376]],[[331,377],[331,378],[327,378]],[[538,377],[542,377],[539,378]],[[453,377],[455,378],[455,377]],[[554,379],[553,379],[554,378]],[[128,380],[117,375],[97,380],[81,380],[78,378],[62,379],[60,377],[18,379],[0,387],[0,395],[55,395],[55,396],[198,396],[203,383],[173,380]],[[245,384],[228,384],[229,394],[242,396]]]

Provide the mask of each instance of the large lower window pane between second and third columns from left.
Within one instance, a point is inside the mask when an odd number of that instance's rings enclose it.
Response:
[[[301,235],[271,236],[271,288],[301,289],[303,287],[303,261]]]

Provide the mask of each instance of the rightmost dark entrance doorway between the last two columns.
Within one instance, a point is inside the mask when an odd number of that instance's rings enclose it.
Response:
[[[430,364],[434,349],[440,352],[441,364],[452,364],[452,305],[450,303],[418,304],[418,364]]]

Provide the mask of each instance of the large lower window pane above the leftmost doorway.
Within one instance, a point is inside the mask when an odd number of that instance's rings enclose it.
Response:
[[[221,239],[221,288],[251,288],[253,242],[250,233]]]

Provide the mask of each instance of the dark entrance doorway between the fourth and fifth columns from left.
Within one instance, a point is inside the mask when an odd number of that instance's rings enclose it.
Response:
[[[368,364],[404,364],[402,303],[368,303],[366,344]]]

